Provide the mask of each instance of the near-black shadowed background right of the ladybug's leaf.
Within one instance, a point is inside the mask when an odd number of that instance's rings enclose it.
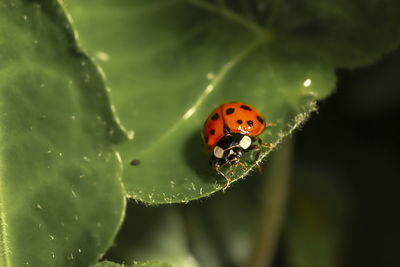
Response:
[[[345,266],[400,266],[400,51],[338,70],[336,92],[296,134],[296,166],[334,169],[349,201]]]

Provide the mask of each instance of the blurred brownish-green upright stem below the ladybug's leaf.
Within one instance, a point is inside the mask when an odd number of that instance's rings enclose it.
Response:
[[[270,168],[263,175],[261,212],[248,267],[268,267],[272,264],[285,214],[291,162],[292,141],[289,138],[271,157]]]

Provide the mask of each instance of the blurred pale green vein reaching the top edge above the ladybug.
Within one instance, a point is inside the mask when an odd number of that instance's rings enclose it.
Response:
[[[232,10],[226,8],[225,6],[216,6],[214,4],[206,2],[204,0],[186,0],[186,1],[197,7],[208,10],[212,13],[219,14],[226,19],[229,19],[233,22],[236,22],[236,23],[248,28],[249,30],[254,32],[257,36],[264,39],[265,41],[272,39],[272,35],[273,35],[272,31],[270,31],[269,29],[263,28],[260,25],[258,25],[257,23],[240,16],[239,14],[233,12]]]

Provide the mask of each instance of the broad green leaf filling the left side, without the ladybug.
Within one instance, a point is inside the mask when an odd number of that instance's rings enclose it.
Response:
[[[125,134],[57,1],[2,1],[0,25],[0,265],[88,266],[124,213]]]

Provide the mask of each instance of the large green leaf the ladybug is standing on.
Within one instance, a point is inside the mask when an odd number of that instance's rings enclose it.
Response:
[[[129,197],[186,202],[220,190],[225,181],[208,174],[200,140],[215,107],[253,105],[277,123],[261,135],[277,145],[332,92],[335,67],[371,62],[399,43],[381,30],[398,32],[388,4],[301,3],[280,1],[270,14],[258,8],[246,16],[233,2],[69,2],[83,44],[104,67],[116,110],[134,135],[119,147]],[[232,181],[253,169],[253,156],[245,157],[247,171],[234,168]],[[140,165],[130,166],[134,159]]]

